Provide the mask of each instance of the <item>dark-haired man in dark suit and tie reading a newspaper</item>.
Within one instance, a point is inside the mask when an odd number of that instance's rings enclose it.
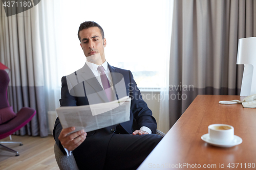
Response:
[[[129,95],[130,120],[92,132],[74,133],[75,127],[62,129],[59,119],[54,139],[60,150],[75,157],[79,169],[136,169],[162,139],[156,120],[141,98],[130,70],[106,62],[106,39],[93,21],[81,23],[78,38],[87,61],[73,74],[62,77],[60,106],[80,106],[109,102]]]

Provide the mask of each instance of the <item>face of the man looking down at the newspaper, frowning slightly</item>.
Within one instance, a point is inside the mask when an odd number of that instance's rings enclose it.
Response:
[[[88,29],[83,29],[79,32],[79,35],[81,40],[80,45],[87,59],[101,59],[103,63],[105,61],[104,47],[106,46],[106,40],[105,38],[102,39],[99,28],[90,27]]]

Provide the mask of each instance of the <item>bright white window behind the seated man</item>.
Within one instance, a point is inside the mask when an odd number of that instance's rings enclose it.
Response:
[[[140,88],[160,88],[168,69],[170,16],[167,1],[61,1],[59,47],[62,76],[81,68],[86,57],[77,31],[83,21],[104,30],[105,57],[110,65],[129,69]],[[75,17],[74,17],[75,16]]]

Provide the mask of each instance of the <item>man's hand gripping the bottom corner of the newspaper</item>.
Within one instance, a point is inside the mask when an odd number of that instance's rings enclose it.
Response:
[[[59,141],[68,151],[76,149],[86,139],[87,133],[84,130],[77,131],[75,133],[68,133],[75,130],[75,127],[62,129],[59,134]]]

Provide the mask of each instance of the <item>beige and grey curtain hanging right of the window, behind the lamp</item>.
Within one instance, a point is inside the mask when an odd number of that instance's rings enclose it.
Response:
[[[239,95],[239,38],[256,36],[256,0],[175,0],[169,69],[170,127],[198,94]]]

